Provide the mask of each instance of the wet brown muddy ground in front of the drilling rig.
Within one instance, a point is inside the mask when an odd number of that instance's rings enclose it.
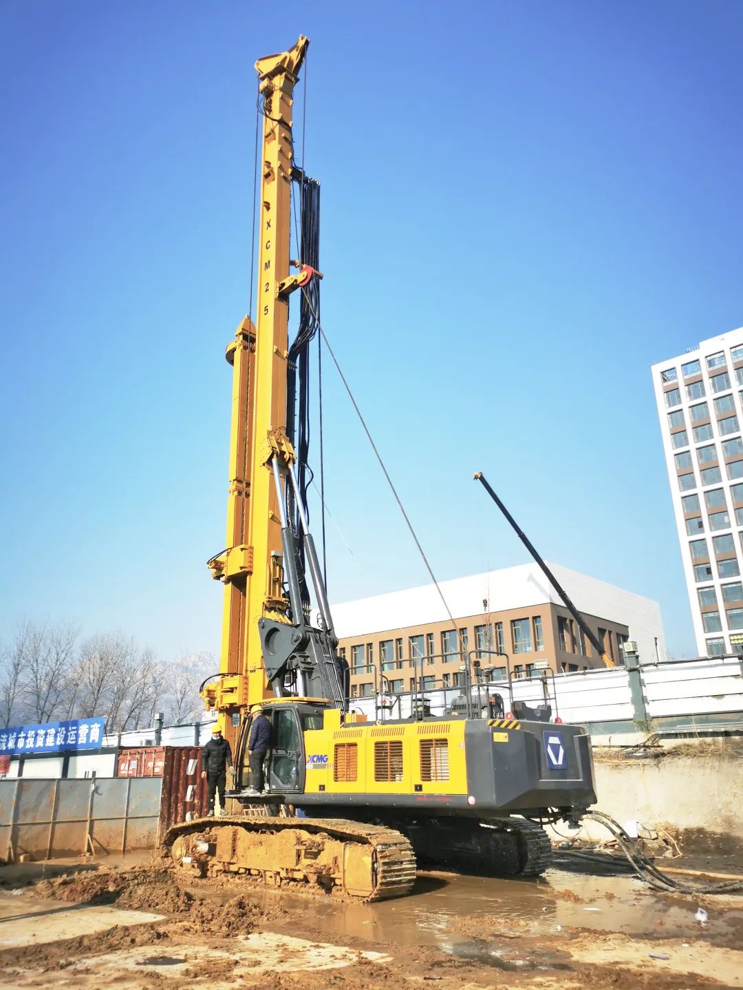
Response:
[[[2,867],[0,987],[743,986],[743,895],[659,895],[585,869],[429,872],[405,898],[358,905],[179,879],[144,855]]]

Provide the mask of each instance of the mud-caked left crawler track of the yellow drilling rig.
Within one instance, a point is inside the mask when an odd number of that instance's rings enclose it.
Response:
[[[239,874],[265,886],[366,902],[407,893],[416,876],[404,836],[345,820],[197,819],[172,826],[161,846],[191,875]]]

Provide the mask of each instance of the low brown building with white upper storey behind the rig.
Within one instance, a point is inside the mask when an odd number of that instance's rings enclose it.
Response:
[[[643,659],[665,658],[656,602],[549,565],[615,663],[637,641]],[[340,649],[351,668],[352,697],[429,690],[464,683],[467,661],[499,679],[603,666],[593,647],[535,563],[377,595],[333,606]],[[454,624],[449,613],[454,618]],[[497,655],[500,654],[500,655]],[[476,671],[477,673],[477,668]]]

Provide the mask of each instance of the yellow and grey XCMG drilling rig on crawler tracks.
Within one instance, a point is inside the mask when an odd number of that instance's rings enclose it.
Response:
[[[292,98],[307,45],[300,37],[292,49],[256,62],[263,120],[257,322],[244,319],[227,347],[227,546],[209,561],[224,584],[224,619],[220,673],[202,693],[233,743],[230,793],[244,814],[180,823],[163,843],[190,873],[242,874],[367,901],[405,893],[416,860],[536,875],[550,862],[542,822],[577,822],[595,801],[582,728],[555,725],[548,712],[527,706],[505,717],[490,707],[474,718],[469,693],[446,717],[431,717],[426,704],[383,723],[349,710],[348,668],[306,499],[319,185],[293,160]],[[294,261],[292,182],[301,203]],[[289,344],[295,293],[299,328]],[[313,600],[317,625],[310,622]],[[267,788],[258,796],[249,793],[247,758],[256,705],[272,724]]]

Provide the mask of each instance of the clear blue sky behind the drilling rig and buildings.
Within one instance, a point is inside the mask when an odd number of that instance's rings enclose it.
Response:
[[[649,366],[743,324],[743,6],[27,0],[0,28],[0,641],[218,649],[253,62],[301,32],[323,325],[437,576],[525,560],[482,470],[694,651]],[[424,583],[326,369],[331,600]]]

